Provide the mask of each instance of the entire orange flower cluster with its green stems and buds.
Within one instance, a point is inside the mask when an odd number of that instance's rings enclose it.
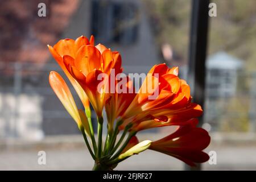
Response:
[[[49,83],[84,136],[95,160],[93,169],[113,169],[122,160],[147,149],[174,156],[190,166],[209,159],[202,151],[210,143],[208,132],[196,127],[197,117],[203,110],[200,105],[191,102],[189,85],[178,77],[177,67],[155,65],[144,78],[139,92],[106,92],[113,85],[114,88],[118,87],[121,82],[119,89],[134,91],[130,77],[118,78],[122,73],[122,60],[118,52],[102,44],[94,46],[93,36],[90,40],[84,36],[76,40],[63,39],[48,48],[84,106],[85,110],[77,109],[67,84],[59,73],[52,71]],[[114,80],[110,80],[113,70]],[[102,74],[105,76],[102,77]],[[152,99],[156,92],[158,94]],[[97,142],[90,105],[97,115]],[[104,109],[108,120],[105,143],[102,142]],[[177,129],[154,142],[139,142],[136,137],[139,131],[163,126],[177,126]]]

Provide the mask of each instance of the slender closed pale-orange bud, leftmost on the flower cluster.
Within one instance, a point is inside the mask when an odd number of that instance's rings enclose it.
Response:
[[[49,74],[49,84],[51,85],[53,91],[65,107],[71,117],[76,121],[77,126],[81,130],[85,129],[85,133],[89,136],[89,124],[85,116],[84,111],[78,110],[73,96],[65,83],[63,78],[57,72],[51,72]]]

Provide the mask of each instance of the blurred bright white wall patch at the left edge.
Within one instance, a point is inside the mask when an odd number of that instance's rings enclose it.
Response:
[[[42,98],[38,95],[0,93],[0,137],[40,140],[44,137],[41,129]]]

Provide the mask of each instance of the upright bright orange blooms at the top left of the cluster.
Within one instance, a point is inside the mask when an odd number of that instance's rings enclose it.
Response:
[[[80,87],[77,86],[79,89],[76,90],[79,90],[79,95],[87,96],[97,116],[101,117],[106,100],[106,86],[103,84],[100,89],[98,88],[102,81],[98,80],[98,76],[101,73],[109,75],[112,68],[115,69],[116,73],[122,72],[119,53],[112,52],[101,44],[94,47],[93,36],[91,36],[90,41],[84,36],[76,40],[60,40],[53,48],[49,46],[49,50],[69,80],[79,83],[82,88],[81,91]],[[71,76],[75,81],[70,78]],[[85,101],[85,97],[80,98]],[[86,101],[86,103],[88,102]]]

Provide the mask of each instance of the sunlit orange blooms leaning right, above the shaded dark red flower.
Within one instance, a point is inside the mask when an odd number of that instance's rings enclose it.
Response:
[[[125,104],[122,103],[127,106],[125,111],[117,111],[124,121],[119,129],[123,129],[128,123],[133,123],[134,131],[168,126],[199,117],[203,113],[200,105],[191,103],[189,86],[177,76],[177,67],[168,69],[166,64],[159,64],[152,67],[148,73],[150,74],[144,80],[139,93],[131,95],[133,98],[124,101]],[[142,92],[143,87],[150,84],[148,80],[156,80],[158,83],[154,83],[154,90],[159,93],[154,100],[149,99],[154,93]],[[118,100],[123,97],[122,93],[119,94]]]

